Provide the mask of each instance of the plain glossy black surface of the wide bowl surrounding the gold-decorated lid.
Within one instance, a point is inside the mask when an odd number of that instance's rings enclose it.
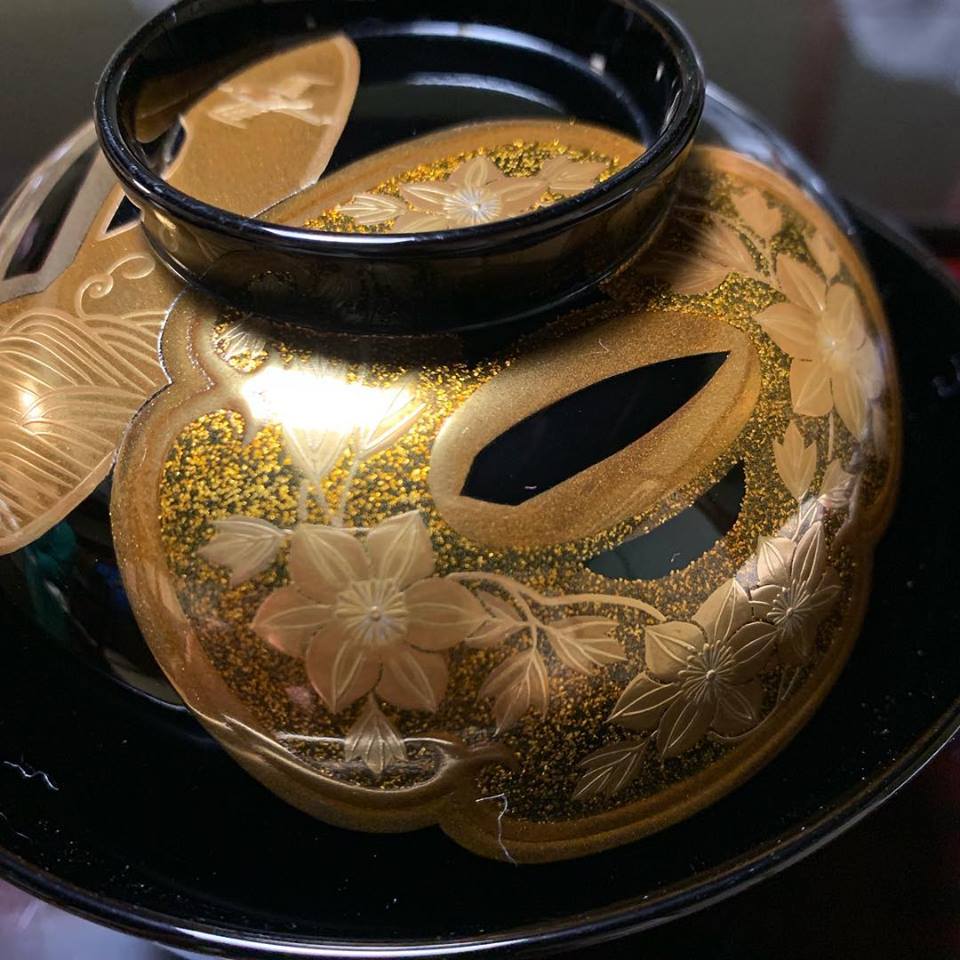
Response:
[[[467,945],[556,955],[723,897],[855,822],[960,725],[951,482],[960,384],[950,360],[960,352],[960,296],[881,224],[864,223],[863,239],[901,363],[902,495],[840,681],[742,788],[662,834],[547,866],[481,860],[435,829],[326,827],[267,793],[184,711],[53,642],[41,614],[28,612],[24,551],[0,561],[0,759],[46,776],[0,766],[2,872],[104,922],[231,957]],[[98,549],[109,563],[109,544]]]

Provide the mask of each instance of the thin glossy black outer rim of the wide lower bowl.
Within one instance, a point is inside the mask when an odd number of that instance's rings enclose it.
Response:
[[[960,288],[929,251],[881,218],[865,213],[862,209],[855,212],[861,222],[900,247],[935,279],[954,290],[960,310]],[[289,941],[269,936],[254,939],[236,930],[210,924],[188,927],[184,921],[171,916],[133,909],[116,900],[91,896],[79,887],[64,883],[46,871],[37,870],[2,849],[0,872],[36,896],[91,920],[184,950],[230,951],[232,956],[238,958],[342,957],[354,960],[450,957],[487,954],[500,950],[540,954],[560,949],[563,945],[571,945],[573,941],[576,941],[577,946],[587,946],[660,926],[724,900],[779,873],[825,846],[889,799],[907,784],[958,730],[960,697],[951,703],[937,723],[916,740],[909,751],[859,791],[848,795],[843,802],[823,816],[794,825],[779,837],[767,841],[751,855],[714,869],[694,885],[675,885],[655,899],[625,900],[604,910],[593,911],[585,917],[515,928],[469,940],[407,944],[387,941],[359,946],[316,939],[311,942]]]

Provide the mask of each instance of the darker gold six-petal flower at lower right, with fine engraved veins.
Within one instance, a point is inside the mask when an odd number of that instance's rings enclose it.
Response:
[[[675,757],[708,730],[736,736],[759,720],[757,674],[776,627],[751,622],[750,600],[736,580],[714,591],[692,622],[645,630],[647,672],[624,690],[610,719],[629,730],[656,728],[661,757]]]

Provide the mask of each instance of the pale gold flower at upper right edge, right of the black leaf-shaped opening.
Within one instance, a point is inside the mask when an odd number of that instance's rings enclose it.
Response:
[[[822,417],[836,408],[859,440],[870,404],[883,389],[883,368],[856,293],[845,283],[828,287],[811,267],[786,256],[777,263],[777,280],[787,300],[768,307],[757,320],[793,358],[794,411]]]

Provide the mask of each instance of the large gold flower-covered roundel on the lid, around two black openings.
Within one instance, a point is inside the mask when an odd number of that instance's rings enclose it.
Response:
[[[599,170],[536,152],[559,134],[480,140],[521,142],[533,167],[514,175],[468,129],[388,158],[415,174],[361,161],[285,216],[448,224],[467,188],[482,206],[513,196],[505,181],[560,194]],[[882,309],[836,225],[773,171],[698,148],[683,179],[655,259],[482,359],[178,300],[171,383],[118,459],[118,556],[181,696],[281,797],[358,829],[439,823],[500,859],[578,856],[732,789],[835,681],[899,464]],[[465,493],[531,416],[703,354],[721,357],[709,381],[612,455],[520,503]],[[735,465],[739,515],[701,556],[655,580],[591,568]]]

